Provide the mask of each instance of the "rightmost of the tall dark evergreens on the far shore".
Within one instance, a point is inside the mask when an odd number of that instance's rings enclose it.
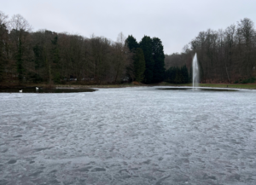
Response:
[[[153,82],[158,83],[164,80],[165,75],[165,54],[160,38],[152,39],[152,51],[154,53],[154,74]]]

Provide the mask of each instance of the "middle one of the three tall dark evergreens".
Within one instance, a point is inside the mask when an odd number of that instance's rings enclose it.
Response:
[[[144,82],[150,84],[153,82],[154,77],[154,59],[152,52],[152,39],[148,36],[144,36],[139,43],[139,48],[143,49],[146,69],[144,72]]]

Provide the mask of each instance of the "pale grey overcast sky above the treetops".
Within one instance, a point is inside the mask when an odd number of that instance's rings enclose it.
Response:
[[[139,42],[160,38],[165,54],[181,52],[201,31],[225,29],[247,17],[256,23],[256,0],[0,0],[0,11],[21,14],[32,31],[91,34]]]

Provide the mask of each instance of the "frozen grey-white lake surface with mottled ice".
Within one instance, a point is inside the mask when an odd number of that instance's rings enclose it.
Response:
[[[256,184],[256,91],[0,94],[0,184]]]

